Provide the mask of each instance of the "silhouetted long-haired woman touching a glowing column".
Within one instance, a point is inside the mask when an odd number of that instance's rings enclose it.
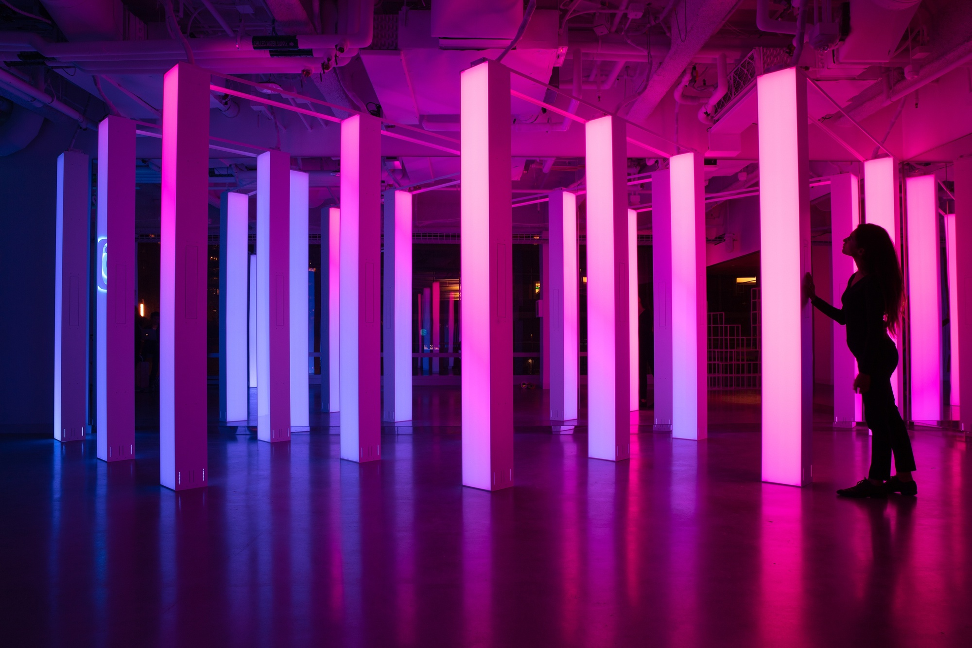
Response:
[[[842,308],[816,296],[814,277],[804,276],[804,294],[823,314],[847,326],[848,346],[857,359],[854,391],[864,399],[864,420],[871,428],[871,470],[856,486],[841,488],[845,497],[886,497],[888,492],[918,494],[912,479],[915,455],[908,430],[898,414],[891,391],[891,373],[898,365],[898,350],[887,336],[900,323],[901,268],[894,244],[884,228],[866,224],[844,239],[842,252],[853,257],[857,271],[841,296]],[[891,452],[897,474],[891,477]]]

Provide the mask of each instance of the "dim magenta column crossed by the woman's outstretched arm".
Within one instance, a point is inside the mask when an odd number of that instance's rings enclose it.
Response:
[[[833,301],[840,307],[841,295],[854,273],[851,257],[842,254],[844,239],[851,235],[860,222],[860,183],[853,173],[843,173],[830,178],[830,239],[831,267],[833,274]],[[853,378],[856,364],[848,348],[847,331],[833,322],[834,332],[834,425],[853,427],[857,420]]]

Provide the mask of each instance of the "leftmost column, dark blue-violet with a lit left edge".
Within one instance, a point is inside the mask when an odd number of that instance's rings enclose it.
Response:
[[[85,154],[66,151],[58,156],[54,243],[54,439],[57,441],[82,441],[87,427],[90,180]],[[96,272],[100,270],[98,265]]]

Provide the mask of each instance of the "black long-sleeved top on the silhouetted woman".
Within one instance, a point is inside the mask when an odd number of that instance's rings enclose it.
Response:
[[[888,350],[895,349],[894,342],[887,337],[885,322],[885,296],[881,284],[873,276],[865,275],[857,283],[851,283],[841,295],[842,308],[830,306],[814,296],[814,306],[838,324],[848,329],[848,347],[857,358],[857,369],[861,374],[874,374],[885,365],[882,361]]]

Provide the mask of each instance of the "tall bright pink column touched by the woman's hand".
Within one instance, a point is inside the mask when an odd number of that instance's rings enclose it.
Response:
[[[802,72],[788,68],[764,74],[756,83],[763,283],[763,481],[804,486],[812,478],[814,370],[813,306],[805,303],[801,294],[803,275],[810,270],[807,81]],[[677,322],[674,328],[677,332]]]

